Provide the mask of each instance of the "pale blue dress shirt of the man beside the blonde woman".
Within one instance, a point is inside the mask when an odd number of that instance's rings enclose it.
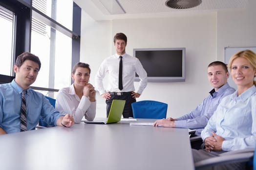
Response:
[[[175,121],[176,127],[196,129],[195,135],[200,136],[202,130],[207,125],[208,120],[213,115],[213,112],[216,110],[220,101],[225,96],[234,92],[235,89],[230,87],[228,83],[223,85],[217,91],[211,93],[207,98],[205,98],[204,101],[193,111],[180,118],[177,118]]]

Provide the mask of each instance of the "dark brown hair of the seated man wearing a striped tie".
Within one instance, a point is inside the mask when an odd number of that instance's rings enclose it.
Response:
[[[38,64],[39,70],[41,68],[41,62],[38,56],[31,54],[30,52],[23,52],[21,55],[19,55],[16,59],[15,65],[20,68],[21,65],[26,61],[26,60],[31,60],[35,63]]]

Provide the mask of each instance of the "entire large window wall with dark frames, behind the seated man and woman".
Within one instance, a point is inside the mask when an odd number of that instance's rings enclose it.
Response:
[[[30,51],[42,63],[32,88],[56,97],[53,92],[71,84],[71,68],[80,60],[80,23],[73,0],[0,0],[0,74],[15,76],[13,56]]]

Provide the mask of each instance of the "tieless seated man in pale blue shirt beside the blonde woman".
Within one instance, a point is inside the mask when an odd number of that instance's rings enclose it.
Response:
[[[228,68],[225,63],[214,61],[207,68],[208,80],[213,86],[210,95],[190,113],[180,118],[159,119],[154,126],[196,129],[195,136],[200,136],[208,120],[213,115],[220,101],[227,95],[235,92],[235,89],[227,83],[229,78]]]

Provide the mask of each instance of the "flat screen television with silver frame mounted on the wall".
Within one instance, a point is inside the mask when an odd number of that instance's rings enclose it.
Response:
[[[148,82],[185,82],[185,48],[133,49],[133,56],[147,71]]]

